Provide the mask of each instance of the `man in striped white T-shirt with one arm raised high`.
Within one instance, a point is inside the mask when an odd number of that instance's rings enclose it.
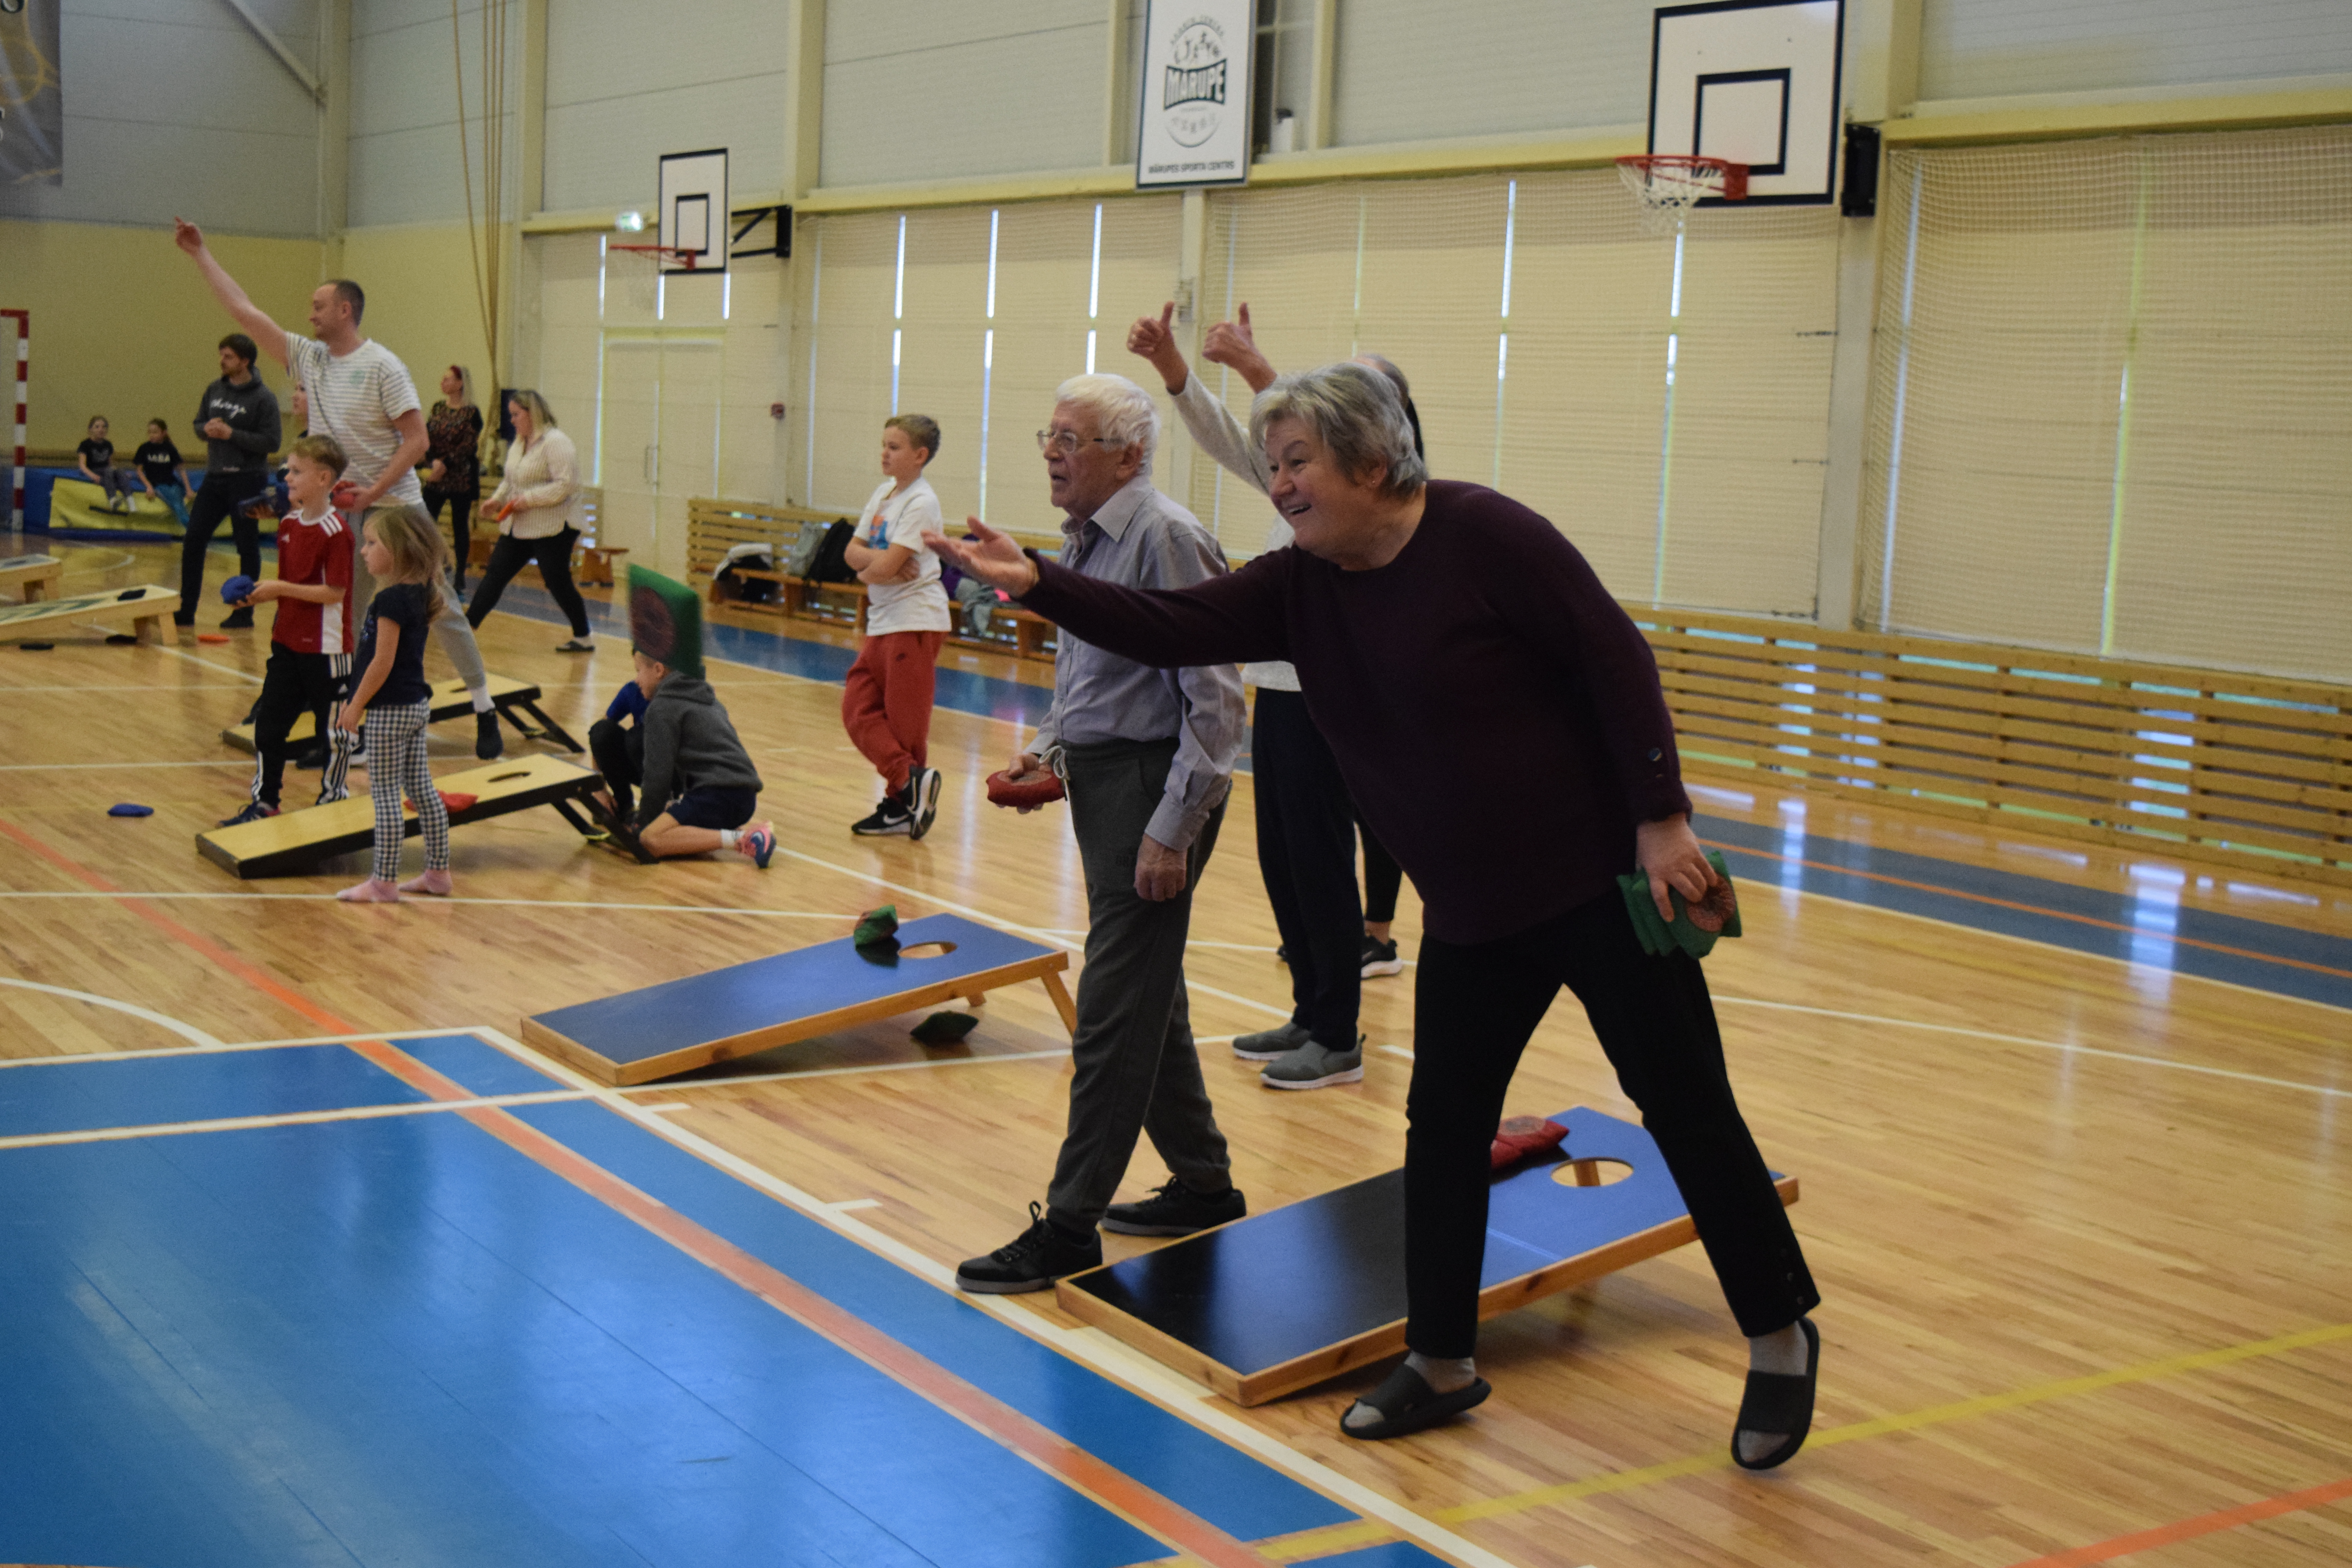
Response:
[[[346,482],[358,494],[336,505],[348,512],[353,534],[379,510],[414,510],[426,517],[426,494],[416,482],[416,461],[426,454],[426,414],[416,400],[416,383],[400,357],[360,334],[360,317],[367,313],[367,294],[348,277],[329,277],[310,294],[310,331],[315,339],[287,331],[256,306],[245,287],[228,275],[205,230],[188,219],[172,219],[172,242],[188,252],[212,296],[221,308],[254,336],[273,360],[294,371],[310,402],[310,430],[332,435],[350,458]],[[435,524],[426,520],[426,529]],[[374,599],[376,585],[367,581],[367,567],[358,567],[353,602]],[[445,574],[447,576],[447,574]],[[466,691],[473,698],[475,743],[473,755],[485,762],[503,750],[499,738],[499,715],[489,703],[489,672],[482,668],[482,649],[473,642],[473,628],[459,609],[454,585],[442,585],[442,618],[433,623],[433,635],[442,654],[456,665]]]

